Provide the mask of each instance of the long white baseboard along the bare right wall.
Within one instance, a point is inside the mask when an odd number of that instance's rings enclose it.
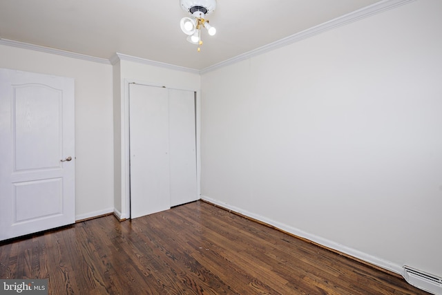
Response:
[[[241,216],[251,218],[253,220],[256,220],[260,223],[263,223],[265,225],[275,227],[276,229],[280,231],[285,231],[287,234],[296,236],[298,238],[301,238],[302,240],[307,240],[307,242],[312,242],[320,247],[327,248],[331,251],[334,251],[339,254],[343,254],[344,256],[358,260],[361,263],[365,263],[367,265],[370,265],[376,269],[379,269],[383,272],[387,272],[389,274],[392,274],[394,276],[398,277],[404,277],[404,271],[403,267],[401,265],[397,265],[395,263],[392,263],[387,260],[383,260],[381,258],[366,254],[362,251],[358,251],[356,249],[353,249],[351,247],[347,247],[345,245],[341,245],[338,242],[334,242],[332,240],[328,240],[326,238],[322,238],[320,236],[316,236],[314,234],[309,234],[305,231],[302,231],[300,229],[297,229],[296,227],[291,227],[289,225],[285,225],[281,222],[277,222],[275,220],[271,220],[269,218],[266,218],[264,216],[260,216],[258,214],[249,212],[247,210],[232,206],[231,204],[227,204],[224,202],[221,202],[219,200],[215,200],[212,198],[209,198],[207,196],[201,196],[201,200],[205,202],[209,202],[211,204],[214,204],[216,206],[222,207],[223,209],[227,209],[229,211],[232,211],[233,213],[238,213]]]

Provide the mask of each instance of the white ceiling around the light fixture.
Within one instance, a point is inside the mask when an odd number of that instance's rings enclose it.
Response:
[[[0,38],[110,59],[122,53],[202,70],[381,0],[218,0],[201,52],[179,0],[1,0]]]

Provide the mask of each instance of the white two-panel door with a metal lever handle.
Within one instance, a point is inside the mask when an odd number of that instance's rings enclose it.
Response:
[[[75,222],[74,107],[74,79],[0,69],[0,240]]]

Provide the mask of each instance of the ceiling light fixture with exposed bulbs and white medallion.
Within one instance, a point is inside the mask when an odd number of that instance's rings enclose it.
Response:
[[[206,15],[215,10],[216,0],[180,0],[180,4],[181,8],[191,15],[191,17],[181,19],[181,30],[188,35],[187,41],[198,44],[198,52],[200,52],[200,46],[202,45],[201,28],[206,28],[211,36],[216,33],[216,29],[209,24],[209,20],[204,19]]]

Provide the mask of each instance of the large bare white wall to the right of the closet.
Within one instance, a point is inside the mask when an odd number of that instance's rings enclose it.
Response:
[[[442,1],[202,75],[202,195],[442,276]]]

